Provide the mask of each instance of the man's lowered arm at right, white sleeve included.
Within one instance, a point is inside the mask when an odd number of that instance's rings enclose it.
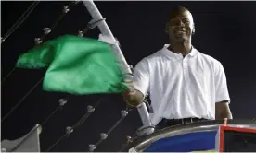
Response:
[[[215,96],[215,119],[232,119],[226,76],[221,63],[218,63],[215,69]]]

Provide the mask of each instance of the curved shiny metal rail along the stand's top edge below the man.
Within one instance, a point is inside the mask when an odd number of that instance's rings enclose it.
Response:
[[[123,145],[120,152],[128,152],[129,149],[134,148],[136,152],[143,152],[150,147],[151,144],[161,138],[172,137],[174,135],[183,135],[196,132],[217,131],[219,126],[223,124],[223,120],[203,121],[192,124],[181,124],[167,127],[160,131],[156,131],[151,135],[140,136],[136,139],[129,139]],[[256,129],[256,121],[247,120],[228,120],[229,126],[244,127]]]

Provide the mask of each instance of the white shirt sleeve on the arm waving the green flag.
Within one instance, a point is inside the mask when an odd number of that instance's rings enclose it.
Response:
[[[134,88],[146,96],[149,88],[149,66],[146,58],[135,66],[133,80]]]

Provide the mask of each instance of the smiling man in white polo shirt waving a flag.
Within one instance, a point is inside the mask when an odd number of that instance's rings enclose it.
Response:
[[[151,122],[163,128],[201,120],[232,119],[223,65],[191,44],[195,25],[185,7],[173,9],[166,24],[170,45],[142,59],[124,94],[138,106],[150,93]]]

